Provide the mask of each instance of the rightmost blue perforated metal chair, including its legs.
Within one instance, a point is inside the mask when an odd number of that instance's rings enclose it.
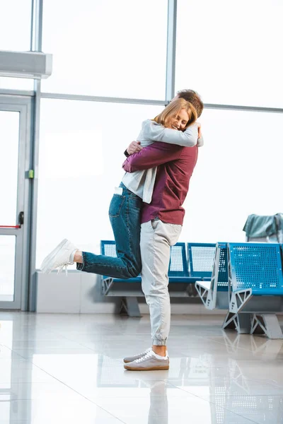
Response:
[[[282,257],[278,243],[229,243],[229,312],[252,314],[250,334],[283,338]]]

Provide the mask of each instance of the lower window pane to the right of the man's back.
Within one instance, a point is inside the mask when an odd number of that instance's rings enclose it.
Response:
[[[282,212],[283,114],[204,110],[182,240],[244,242],[248,215]]]

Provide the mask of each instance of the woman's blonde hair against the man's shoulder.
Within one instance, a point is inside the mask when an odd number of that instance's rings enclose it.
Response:
[[[190,102],[187,102],[182,98],[172,100],[172,102],[169,103],[169,105],[166,106],[166,108],[152,120],[157,122],[157,124],[167,126],[168,122],[170,122],[170,120],[175,117],[181,109],[185,109],[189,115],[189,120],[185,126],[185,128],[187,128],[197,120],[197,111]]]

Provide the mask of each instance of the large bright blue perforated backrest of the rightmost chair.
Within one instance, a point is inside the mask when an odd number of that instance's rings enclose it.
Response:
[[[253,288],[283,295],[279,243],[229,243],[233,290]]]

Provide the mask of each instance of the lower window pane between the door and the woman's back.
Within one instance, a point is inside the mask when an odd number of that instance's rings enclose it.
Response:
[[[42,99],[37,267],[63,238],[100,252],[113,240],[108,207],[125,148],[163,106]]]

